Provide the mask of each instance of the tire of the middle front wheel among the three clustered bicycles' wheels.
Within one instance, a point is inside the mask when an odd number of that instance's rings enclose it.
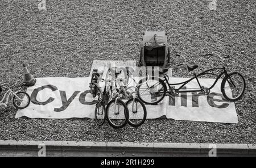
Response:
[[[118,102],[123,106],[123,108],[124,108],[123,112],[125,115],[125,121],[121,125],[114,124],[109,116],[109,108],[112,103],[115,103],[115,99],[110,100],[110,102],[108,103],[108,105],[106,107],[106,114],[107,114],[106,117],[107,117],[109,125],[112,126],[113,128],[123,128],[123,127],[125,127],[125,125],[128,123],[128,120],[129,120],[129,111],[128,111],[126,104],[121,99],[119,99]]]

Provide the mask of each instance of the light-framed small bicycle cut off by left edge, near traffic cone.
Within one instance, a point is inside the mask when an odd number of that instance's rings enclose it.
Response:
[[[9,84],[3,83],[2,85],[0,85],[0,93],[3,91],[2,87],[6,87],[6,89],[7,89],[5,95],[3,96],[3,99],[0,101],[0,106],[7,107],[9,98],[12,95],[13,96],[13,105],[16,108],[23,109],[23,108],[28,107],[28,105],[30,104],[30,96],[23,91],[14,92],[7,85],[9,85]],[[6,100],[5,103],[3,103],[4,100]]]

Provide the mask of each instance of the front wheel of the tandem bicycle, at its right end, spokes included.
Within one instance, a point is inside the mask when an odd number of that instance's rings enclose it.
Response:
[[[230,102],[234,102],[241,99],[245,92],[245,85],[245,78],[238,72],[232,72],[222,80],[221,92],[224,98]]]

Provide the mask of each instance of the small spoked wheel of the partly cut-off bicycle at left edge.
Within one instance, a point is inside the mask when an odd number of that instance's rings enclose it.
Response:
[[[18,91],[15,94],[18,96],[13,96],[13,105],[16,108],[23,109],[30,105],[30,96],[26,92]]]

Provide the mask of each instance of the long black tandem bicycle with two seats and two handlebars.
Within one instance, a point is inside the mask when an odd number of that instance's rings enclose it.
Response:
[[[142,100],[143,103],[146,104],[157,104],[161,100],[163,100],[164,96],[170,95],[170,96],[178,96],[179,93],[187,93],[187,92],[199,92],[200,95],[208,95],[210,93],[210,89],[214,87],[214,85],[217,83],[218,79],[221,78],[222,75],[224,75],[224,78],[221,82],[221,92],[223,96],[229,100],[230,102],[234,102],[236,100],[241,99],[243,93],[245,92],[245,78],[243,78],[242,74],[238,72],[232,72],[228,73],[225,68],[225,63],[229,56],[221,57],[218,54],[216,54],[219,58],[221,58],[222,66],[221,68],[212,68],[209,70],[205,70],[204,72],[200,74],[194,73],[194,77],[188,79],[187,81],[180,82],[180,83],[169,83],[169,77],[167,74],[164,74],[168,71],[168,69],[161,69],[159,70],[159,74],[163,75],[164,79],[160,79],[158,77],[150,77],[147,82],[145,79],[141,79],[139,83],[141,85],[138,88],[138,97]],[[180,56],[179,54],[176,54],[176,56]],[[205,56],[214,56],[214,53],[205,54]],[[183,57],[183,56],[181,56]],[[185,57],[183,57],[185,60],[184,64],[179,64],[177,66],[185,65],[188,71],[192,71],[196,69],[197,65],[191,65],[187,63],[187,60]],[[218,74],[212,73],[212,71],[217,70]],[[212,86],[210,87],[204,87],[199,82],[198,77],[201,75],[215,75],[217,78],[213,82]],[[191,88],[191,89],[183,89],[187,83],[191,82],[193,79],[196,79],[199,87],[197,88]],[[174,85],[181,85],[178,89],[175,89]],[[167,90],[167,86],[169,89]]]

